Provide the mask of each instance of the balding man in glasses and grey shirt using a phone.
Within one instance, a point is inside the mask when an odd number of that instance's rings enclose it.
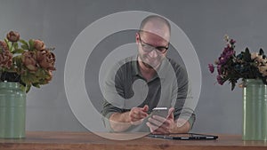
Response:
[[[109,130],[164,134],[185,133],[192,128],[195,114],[185,106],[189,98],[186,71],[174,60],[166,59],[170,36],[166,19],[152,15],[142,20],[135,36],[138,55],[118,62],[105,83],[102,114]],[[134,90],[133,84],[138,80],[146,85]],[[144,100],[134,103],[143,95]],[[168,115],[150,115],[154,107],[168,107]]]

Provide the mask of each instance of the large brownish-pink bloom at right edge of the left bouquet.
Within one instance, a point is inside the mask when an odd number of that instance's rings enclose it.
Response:
[[[55,70],[55,56],[53,52],[48,50],[36,51],[36,60],[40,67],[48,70]]]

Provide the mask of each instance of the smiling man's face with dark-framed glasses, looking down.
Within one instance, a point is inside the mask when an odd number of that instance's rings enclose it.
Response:
[[[149,31],[136,34],[136,43],[138,43],[139,57],[144,67],[157,69],[162,59],[166,57],[169,46],[168,28],[163,28],[159,33],[156,30],[153,31],[153,28]]]

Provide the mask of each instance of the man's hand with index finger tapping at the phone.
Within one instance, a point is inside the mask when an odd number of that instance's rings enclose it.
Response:
[[[148,111],[148,105],[144,107],[133,107],[129,112],[129,121],[134,125],[141,124],[143,119],[149,115],[147,114]]]

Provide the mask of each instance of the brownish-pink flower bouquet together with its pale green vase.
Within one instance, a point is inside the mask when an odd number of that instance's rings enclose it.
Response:
[[[0,138],[24,138],[26,92],[52,80],[53,49],[11,31],[0,40]]]

